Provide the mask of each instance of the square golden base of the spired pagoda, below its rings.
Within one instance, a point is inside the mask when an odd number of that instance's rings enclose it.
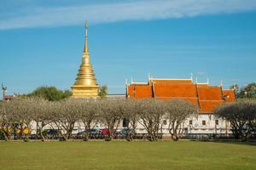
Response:
[[[99,87],[90,86],[73,86],[72,87],[72,98],[75,99],[86,99],[86,98],[98,98]]]

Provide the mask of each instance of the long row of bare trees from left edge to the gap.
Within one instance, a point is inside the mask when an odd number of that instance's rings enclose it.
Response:
[[[90,137],[90,128],[97,122],[105,123],[109,134],[106,140],[113,139],[113,133],[125,119],[128,132],[126,139],[132,140],[137,124],[140,123],[148,133],[148,140],[159,138],[163,120],[169,122],[172,139],[177,140],[183,134],[183,122],[188,116],[197,113],[189,102],[180,99],[160,101],[141,100],[88,100],[64,99],[48,101],[38,98],[13,99],[0,105],[0,131],[6,140],[20,129],[24,139],[28,139],[25,130],[36,122],[38,137],[45,140],[43,130],[46,126],[57,128],[64,140],[70,139],[75,123],[82,123],[85,128],[84,140]]]

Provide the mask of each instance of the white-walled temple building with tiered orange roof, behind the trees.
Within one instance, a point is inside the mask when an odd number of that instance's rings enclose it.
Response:
[[[233,89],[222,85],[212,86],[209,82],[198,83],[190,79],[160,79],[148,77],[148,82],[126,83],[127,99],[184,99],[199,108],[199,114],[191,115],[183,123],[184,136],[209,138],[209,135],[229,135],[230,122],[215,116],[214,109],[224,102],[236,101]],[[163,133],[168,134],[168,122],[164,120]],[[138,132],[143,127],[138,125]]]

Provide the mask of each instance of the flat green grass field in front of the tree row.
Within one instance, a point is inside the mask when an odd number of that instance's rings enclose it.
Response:
[[[0,169],[256,169],[256,145],[193,141],[0,142]]]

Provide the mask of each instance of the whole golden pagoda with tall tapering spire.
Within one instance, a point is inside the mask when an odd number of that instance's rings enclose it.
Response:
[[[73,98],[97,98],[99,85],[96,82],[96,77],[90,64],[89,49],[87,44],[87,21],[85,23],[85,45],[82,56],[82,64],[79,68],[76,81],[72,88]]]

